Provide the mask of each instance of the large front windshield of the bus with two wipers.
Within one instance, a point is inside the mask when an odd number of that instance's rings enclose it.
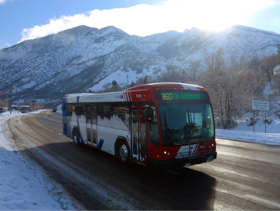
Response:
[[[163,144],[214,136],[210,103],[169,102],[159,103],[158,106]]]

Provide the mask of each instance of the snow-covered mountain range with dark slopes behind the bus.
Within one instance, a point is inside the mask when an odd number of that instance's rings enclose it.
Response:
[[[108,26],[78,26],[0,50],[0,74],[13,83],[15,100],[32,97],[60,101],[67,93],[99,90],[112,80],[131,83],[142,75],[159,74],[166,64],[187,69],[223,48],[227,58],[246,59],[277,52],[280,34],[235,25],[220,32],[198,28],[147,37]],[[0,90],[8,84],[0,78]]]

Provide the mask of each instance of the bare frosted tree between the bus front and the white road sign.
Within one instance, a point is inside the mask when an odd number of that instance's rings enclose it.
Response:
[[[202,77],[213,105],[217,126],[233,128],[254,98],[252,82],[244,80],[246,71],[208,71]]]

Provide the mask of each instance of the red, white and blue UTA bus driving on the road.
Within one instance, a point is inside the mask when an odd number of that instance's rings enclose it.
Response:
[[[67,94],[63,134],[128,165],[169,168],[217,157],[207,91],[184,83],[152,83],[122,92]]]

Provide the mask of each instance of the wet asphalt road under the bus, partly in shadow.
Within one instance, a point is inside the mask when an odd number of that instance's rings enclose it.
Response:
[[[280,147],[217,139],[217,159],[176,171],[121,166],[62,134],[61,114],[8,121],[21,153],[88,210],[280,210]]]

